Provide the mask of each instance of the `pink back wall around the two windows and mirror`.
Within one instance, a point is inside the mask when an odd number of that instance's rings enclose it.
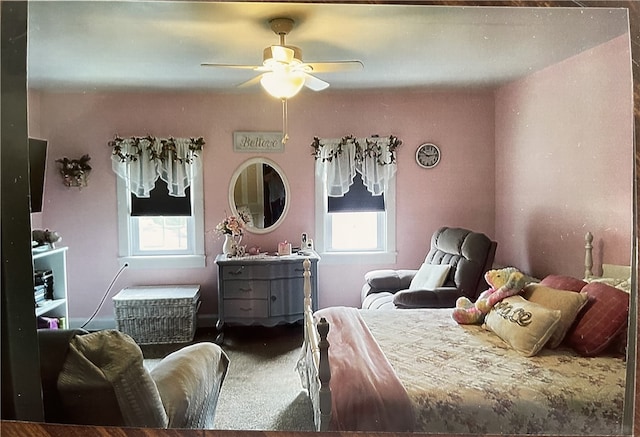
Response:
[[[115,175],[107,142],[121,136],[203,136],[205,185],[205,249],[207,267],[186,270],[127,269],[111,295],[140,284],[199,283],[201,314],[215,314],[216,266],[213,259],[222,240],[211,230],[229,211],[227,190],[235,168],[255,156],[235,153],[237,130],[277,131],[281,108],[277,101],[254,94],[212,93],[31,93],[32,131],[49,140],[49,164],[43,227],[59,231],[69,246],[69,312],[71,319],[88,317],[118,270]],[[278,241],[297,241],[301,232],[313,237],[314,136],[346,134],[397,135],[398,266],[417,267],[433,231],[443,225],[465,226],[493,236],[494,232],[494,103],[489,91],[407,91],[323,93],[304,92],[289,104],[291,137],[284,153],[265,155],[276,161],[291,183],[292,201],[283,225],[266,235],[247,235],[243,242],[274,249]],[[432,170],[415,164],[416,147],[437,143],[442,162]],[[473,153],[469,153],[473,150]],[[62,185],[55,159],[91,155],[89,186]],[[364,272],[390,266],[322,265],[320,305],[358,305]],[[336,273],[340,272],[340,275]],[[340,278],[337,281],[335,278]],[[110,298],[98,317],[111,317]]]

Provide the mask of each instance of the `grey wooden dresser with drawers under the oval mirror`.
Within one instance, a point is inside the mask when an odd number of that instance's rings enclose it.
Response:
[[[216,328],[222,332],[225,323],[275,326],[303,320],[305,259],[311,261],[311,295],[317,305],[320,260],[317,253],[239,258],[218,255]]]

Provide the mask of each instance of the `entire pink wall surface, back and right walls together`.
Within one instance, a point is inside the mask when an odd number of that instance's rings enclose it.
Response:
[[[632,101],[628,35],[493,91],[303,92],[289,104],[290,141],[276,161],[291,183],[283,225],[243,242],[274,249],[314,231],[314,136],[397,135],[396,265],[320,263],[320,305],[359,305],[362,277],[374,268],[417,267],[441,225],[485,232],[499,242],[496,262],[527,272],[582,275],[583,237],[596,236],[596,263],[629,263]],[[252,94],[32,92],[30,130],[49,140],[44,212],[34,225],[69,246],[69,310],[83,321],[118,270],[115,175],[107,142],[122,136],[203,136],[207,267],[126,270],[129,285],[199,283],[201,314],[213,315],[222,241],[213,228],[229,211],[237,130],[277,131],[281,108]],[[425,141],[442,149],[431,170],[414,161]],[[92,157],[89,186],[66,188],[55,159]],[[111,296],[110,295],[110,296]],[[109,297],[110,297],[109,296]],[[110,299],[98,317],[112,317]]]

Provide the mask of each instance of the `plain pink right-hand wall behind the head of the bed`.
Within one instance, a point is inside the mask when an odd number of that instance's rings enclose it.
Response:
[[[497,261],[532,274],[629,264],[633,102],[629,35],[496,93]]]

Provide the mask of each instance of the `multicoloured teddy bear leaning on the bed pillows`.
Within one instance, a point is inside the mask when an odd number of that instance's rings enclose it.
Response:
[[[474,304],[466,297],[459,297],[453,309],[453,320],[461,325],[480,324],[484,316],[502,299],[519,294],[526,285],[526,277],[515,267],[489,270],[484,275],[489,288],[483,291]]]

